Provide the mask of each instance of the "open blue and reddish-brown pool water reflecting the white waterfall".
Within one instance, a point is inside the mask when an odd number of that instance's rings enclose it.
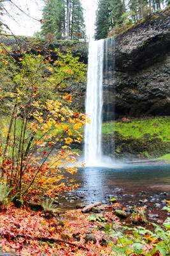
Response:
[[[155,202],[159,202],[170,196],[170,164],[88,167],[80,169],[74,179],[80,188],[69,194],[78,198],[73,204],[80,198],[85,204],[106,203],[110,195],[118,198],[118,201],[134,204],[138,204],[143,197],[152,201],[155,196]]]

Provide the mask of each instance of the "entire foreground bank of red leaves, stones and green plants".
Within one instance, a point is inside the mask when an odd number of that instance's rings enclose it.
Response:
[[[166,208],[169,209],[169,201]],[[11,204],[1,212],[0,251],[28,256],[169,255],[166,214],[152,221],[157,224],[151,224],[146,220],[145,207],[129,213],[113,200],[110,205],[95,209],[101,209],[101,213],[77,209],[50,216],[49,212],[17,209]],[[130,215],[129,228],[124,227]]]

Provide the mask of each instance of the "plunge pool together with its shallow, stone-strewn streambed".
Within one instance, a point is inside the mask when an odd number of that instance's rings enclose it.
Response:
[[[169,214],[162,211],[170,198],[169,165],[87,168],[80,170],[74,178],[80,183],[80,188],[56,198],[56,203],[63,210],[101,202],[103,205],[121,204],[120,210],[125,209],[127,217],[134,205],[143,207],[149,220],[165,220]],[[100,207],[93,208],[94,213],[103,211]],[[129,220],[127,218],[127,222]]]

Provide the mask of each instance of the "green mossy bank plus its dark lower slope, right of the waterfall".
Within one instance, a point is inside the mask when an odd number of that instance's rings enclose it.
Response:
[[[103,143],[115,134],[117,156],[161,157],[170,153],[169,131],[170,117],[105,123]]]

